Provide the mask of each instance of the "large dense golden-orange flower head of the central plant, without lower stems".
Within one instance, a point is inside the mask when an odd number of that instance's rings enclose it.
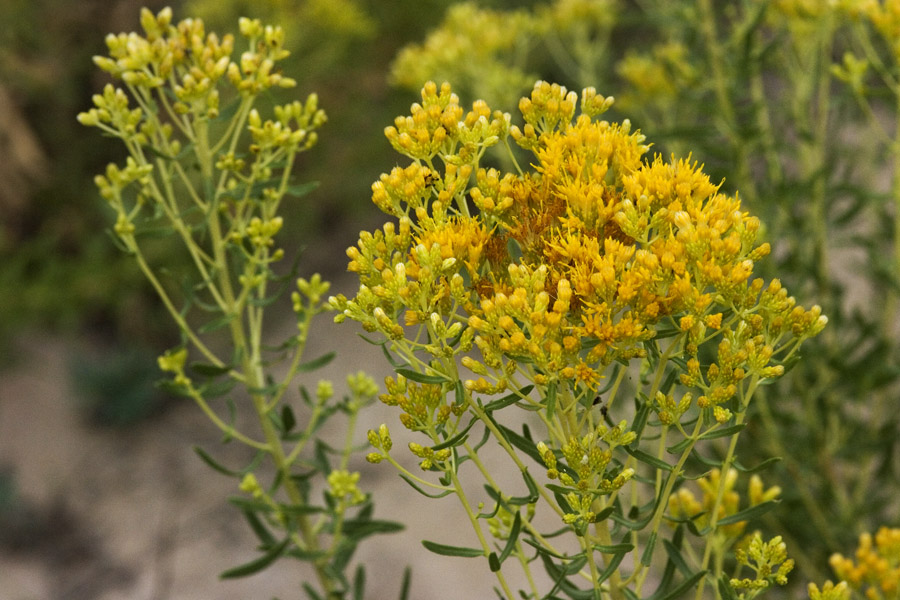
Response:
[[[450,359],[477,347],[480,360],[463,364],[482,375],[466,382],[481,393],[518,374],[586,397],[608,365],[677,336],[681,382],[728,421],[744,379],[781,375],[780,361],[826,319],[777,280],[752,277],[769,245],[736,196],[690,159],[644,160],[645,138],[627,121],[589,116],[609,104],[585,90],[576,116],[576,94],[538,82],[519,128],[427,84],[386,130],[412,163],[372,188],[398,222],[347,251],[361,286],[352,300],[332,299],[337,319],[405,340],[446,381],[457,376]],[[533,152],[533,171],[480,165],[507,138]],[[700,347],[715,339],[714,361],[701,364]]]

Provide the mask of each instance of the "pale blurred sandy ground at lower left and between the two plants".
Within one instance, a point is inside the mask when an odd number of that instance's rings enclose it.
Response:
[[[320,320],[307,356],[338,348],[340,358],[315,379],[333,379],[340,390],[348,371],[383,377],[383,355],[359,340],[355,324],[328,321]],[[235,481],[208,468],[191,446],[231,464],[242,449],[223,448],[188,401],[137,426],[88,424],[68,368],[80,351],[31,338],[21,343],[19,367],[0,374],[0,467],[12,469],[22,501],[0,536],[0,600],[304,598],[299,586],[309,573],[291,560],[249,578],[218,579],[256,556],[255,537],[226,501],[237,493]],[[308,384],[314,389],[315,381]],[[360,441],[381,422],[402,435],[397,414],[379,403],[362,417]],[[485,561],[437,557],[420,543],[476,545],[453,498],[419,496],[386,464],[359,468],[361,487],[377,499],[376,517],[407,523],[405,532],[360,547],[367,598],[397,598],[407,564],[413,599],[496,597]]]

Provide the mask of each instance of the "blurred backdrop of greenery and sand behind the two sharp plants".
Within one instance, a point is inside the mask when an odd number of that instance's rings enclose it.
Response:
[[[786,457],[766,479],[784,490],[783,516],[765,526],[804,555],[795,589],[824,580],[830,552],[850,553],[861,531],[900,518],[895,98],[860,74],[871,110],[859,107],[841,62],[859,35],[818,10],[825,4],[0,2],[0,600],[299,597],[290,565],[217,579],[252,542],[225,501],[231,482],[190,449],[218,450],[215,431],[153,386],[155,357],[176,333],[113,244],[92,183],[123,152],[75,120],[108,81],[91,57],[105,53],[107,33],[138,30],[144,5],[171,5],[176,20],[199,16],[217,32],[244,15],[285,28],[293,55],[283,69],[298,81],[285,99],[317,92],[329,122],[298,165],[302,181],[320,186],[285,207],[280,239],[303,253],[301,275],[322,272],[339,291],[354,285],[344,248],[383,220],[371,183],[404,164],[383,129],[427,79],[449,80],[464,104],[484,98],[514,120],[537,78],[594,85],[617,97],[609,118],[632,119],[654,152],[693,151],[725,190],[740,189],[769,227],[765,274],[831,319],[809,364],[766,390],[775,418],[748,428],[741,454],[745,464]],[[873,51],[896,69],[887,45]],[[310,356],[338,344],[342,357],[322,377],[339,383],[347,365],[379,374],[370,365],[380,354],[367,354],[352,325],[320,327]],[[376,411],[364,427],[382,421],[397,424]],[[391,474],[366,477],[374,487]],[[811,483],[792,485],[804,478]],[[468,563],[430,557],[418,543],[442,525],[444,536],[430,537],[465,545],[453,537],[453,508],[426,503],[416,513],[417,497],[389,489],[397,495],[376,505],[411,533],[363,550],[384,569],[370,574],[371,597],[395,597],[407,562],[419,567],[413,598],[489,589],[464,571],[450,578],[442,569]]]

